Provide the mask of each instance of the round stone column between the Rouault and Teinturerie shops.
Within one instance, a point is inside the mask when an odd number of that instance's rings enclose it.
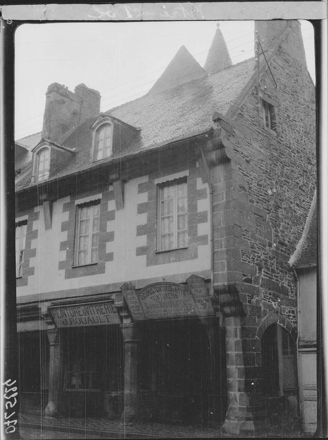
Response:
[[[121,422],[136,421],[139,398],[140,339],[136,323],[121,324],[124,338],[124,411]]]

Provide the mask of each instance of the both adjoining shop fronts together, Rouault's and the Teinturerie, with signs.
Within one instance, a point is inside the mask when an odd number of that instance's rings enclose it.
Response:
[[[220,423],[225,335],[204,279],[121,290],[110,301],[49,308],[45,413]]]

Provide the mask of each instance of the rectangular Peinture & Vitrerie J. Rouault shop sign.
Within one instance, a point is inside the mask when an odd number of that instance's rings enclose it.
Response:
[[[113,303],[103,302],[50,308],[57,327],[103,326],[119,324]]]

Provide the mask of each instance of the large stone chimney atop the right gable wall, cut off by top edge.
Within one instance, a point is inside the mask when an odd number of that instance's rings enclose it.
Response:
[[[281,48],[287,52],[290,58],[306,66],[301,24],[298,20],[255,20],[254,23],[255,40],[258,35],[265,56],[273,50],[277,39],[286,31],[280,44]],[[255,49],[257,49],[257,44],[255,44]],[[257,56],[255,52],[255,57]]]

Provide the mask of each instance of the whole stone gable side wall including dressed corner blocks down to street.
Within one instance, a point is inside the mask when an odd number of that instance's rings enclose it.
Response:
[[[234,332],[236,338],[226,341],[233,357],[227,359],[234,365],[227,369],[229,423],[248,411],[252,420],[264,417],[265,328],[280,324],[295,338],[296,285],[288,260],[302,236],[316,187],[315,91],[295,45],[299,37],[291,32],[270,64],[278,87],[269,70],[260,78],[260,93],[276,107],[276,129],[264,127],[254,81],[237,103],[232,129],[218,123],[212,141],[220,159],[218,165],[212,161],[211,170],[214,289],[233,285],[245,314],[238,323],[230,325],[232,318],[226,318],[225,324],[227,334]]]

